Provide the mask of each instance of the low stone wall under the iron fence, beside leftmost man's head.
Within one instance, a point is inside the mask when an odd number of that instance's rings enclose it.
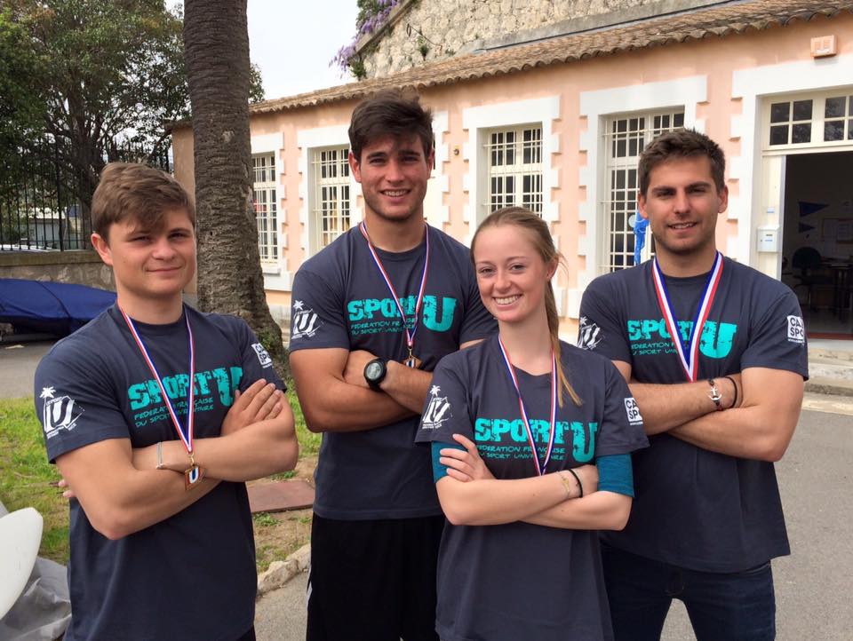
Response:
[[[0,278],[69,282],[115,290],[113,272],[94,251],[2,251]]]

